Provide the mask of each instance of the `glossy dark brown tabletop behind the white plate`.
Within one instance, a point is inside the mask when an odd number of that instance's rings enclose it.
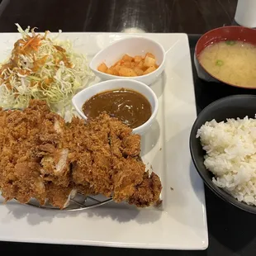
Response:
[[[200,34],[228,25],[237,0],[2,0],[0,31],[14,23],[40,31],[110,31]]]

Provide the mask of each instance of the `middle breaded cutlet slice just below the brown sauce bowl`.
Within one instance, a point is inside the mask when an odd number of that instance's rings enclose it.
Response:
[[[89,183],[94,192],[109,197],[112,191],[112,169],[108,120],[108,116],[102,116],[85,125],[73,119],[67,135],[72,140],[65,145],[70,150],[73,182],[79,185]]]

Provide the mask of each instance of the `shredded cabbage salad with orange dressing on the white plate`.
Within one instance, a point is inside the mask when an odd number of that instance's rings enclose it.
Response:
[[[71,110],[71,97],[93,78],[84,55],[69,40],[50,39],[28,26],[17,25],[21,39],[12,55],[0,66],[0,106],[27,107],[32,98],[44,100],[52,111]],[[61,32],[61,31],[59,31]]]

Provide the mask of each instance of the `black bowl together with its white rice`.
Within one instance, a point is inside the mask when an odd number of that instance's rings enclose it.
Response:
[[[192,161],[220,198],[256,214],[256,95],[224,97],[192,126]]]

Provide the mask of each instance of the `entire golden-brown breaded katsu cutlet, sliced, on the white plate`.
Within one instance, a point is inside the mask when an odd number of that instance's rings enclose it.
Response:
[[[138,207],[157,204],[162,185],[145,172],[140,135],[102,114],[65,123],[45,102],[0,109],[0,190],[6,201],[36,198],[63,209],[76,192],[102,194]]]

